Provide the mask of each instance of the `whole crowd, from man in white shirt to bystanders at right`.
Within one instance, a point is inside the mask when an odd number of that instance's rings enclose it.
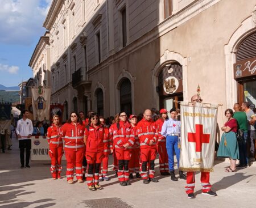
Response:
[[[192,103],[201,103],[199,95],[192,97]],[[222,126],[224,131],[217,156],[230,158],[230,167],[226,172],[234,172],[237,168],[245,168],[254,158],[255,116],[248,103],[239,104],[225,111],[228,121]],[[141,178],[143,184],[158,182],[155,177],[155,158],[159,154],[160,175],[170,175],[172,181],[177,181],[174,169],[174,155],[179,168],[180,156],[180,128],[179,111],[171,109],[168,117],[166,109],[146,109],[142,114],[119,112],[115,117],[99,117],[96,112],[71,112],[65,124],[60,124],[60,118],[53,116],[52,125],[47,130],[49,156],[51,157],[52,179],[61,178],[61,157],[65,152],[67,159],[66,177],[69,184],[73,184],[74,175],[77,182],[86,180],[89,190],[102,189],[100,181],[109,180],[108,159],[113,154],[115,171],[121,186],[131,185],[129,179]],[[26,148],[26,167],[30,168],[31,135],[35,130],[28,112],[22,112],[22,119],[18,121],[16,134],[19,139],[20,163],[24,167],[24,148]],[[237,142],[238,129],[243,131],[243,139]],[[247,152],[247,142],[250,152]],[[63,151],[64,150],[64,151]],[[248,159],[247,153],[251,158]],[[240,164],[236,167],[236,160]],[[135,174],[135,175],[134,175]],[[188,198],[195,198],[195,172],[179,171],[179,178],[187,180],[185,191]],[[201,172],[203,194],[217,196],[212,191],[209,182],[209,172]]]

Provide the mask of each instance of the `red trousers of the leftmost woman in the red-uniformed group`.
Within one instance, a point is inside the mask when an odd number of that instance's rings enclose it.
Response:
[[[51,168],[53,179],[60,179],[60,172],[62,171],[61,158],[63,155],[63,146],[49,147],[49,156],[51,158]]]

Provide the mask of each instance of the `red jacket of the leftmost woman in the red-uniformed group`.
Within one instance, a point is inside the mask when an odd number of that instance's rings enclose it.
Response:
[[[60,128],[61,126],[55,126],[55,124],[52,124],[52,126],[47,129],[47,140],[50,148],[63,147]]]

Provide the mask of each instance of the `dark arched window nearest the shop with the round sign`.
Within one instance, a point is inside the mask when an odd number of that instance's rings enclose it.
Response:
[[[120,110],[127,114],[132,113],[131,107],[131,82],[125,78],[120,84]]]

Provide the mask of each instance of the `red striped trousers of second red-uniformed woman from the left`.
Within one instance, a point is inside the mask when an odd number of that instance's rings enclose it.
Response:
[[[84,151],[84,148],[81,150],[65,148],[65,156],[67,159],[67,180],[73,179],[75,166],[76,179],[82,179],[82,157],[84,156]]]

